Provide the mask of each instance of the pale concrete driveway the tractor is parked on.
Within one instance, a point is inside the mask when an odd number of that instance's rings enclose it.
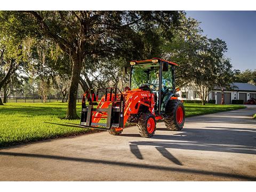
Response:
[[[256,107],[190,117],[182,132],[157,123],[0,150],[1,181],[256,181]]]

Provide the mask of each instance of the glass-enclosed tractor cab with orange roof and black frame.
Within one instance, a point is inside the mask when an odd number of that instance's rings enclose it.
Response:
[[[154,93],[155,113],[165,110],[171,97],[179,97],[175,91],[174,66],[176,63],[159,58],[131,61],[130,89],[141,89]],[[161,83],[159,83],[161,82]]]

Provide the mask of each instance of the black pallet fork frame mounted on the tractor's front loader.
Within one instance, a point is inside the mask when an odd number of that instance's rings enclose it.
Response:
[[[105,91],[105,98],[98,101],[100,91]],[[85,105],[85,97],[89,101],[88,106]],[[83,103],[80,125],[100,130],[124,127],[124,99],[122,93],[117,94],[117,88],[88,90],[84,94]],[[100,122],[102,119],[107,119],[107,122]]]

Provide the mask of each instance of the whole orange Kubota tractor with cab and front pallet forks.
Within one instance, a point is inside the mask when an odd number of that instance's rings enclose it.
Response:
[[[175,89],[178,65],[159,58],[130,64],[129,87],[124,91],[109,87],[85,92],[81,125],[118,135],[126,123],[136,123],[141,137],[149,138],[156,131],[156,120],[163,119],[167,130],[180,131],[185,109]]]

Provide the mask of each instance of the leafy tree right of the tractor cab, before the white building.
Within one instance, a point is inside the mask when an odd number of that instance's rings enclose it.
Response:
[[[179,64],[175,71],[178,86],[190,85],[205,105],[209,93],[215,86],[227,87],[233,81],[236,70],[232,70],[225,58],[227,45],[221,39],[208,39],[202,35],[195,19],[182,15],[180,28],[173,32],[172,42],[164,45],[165,56]]]

